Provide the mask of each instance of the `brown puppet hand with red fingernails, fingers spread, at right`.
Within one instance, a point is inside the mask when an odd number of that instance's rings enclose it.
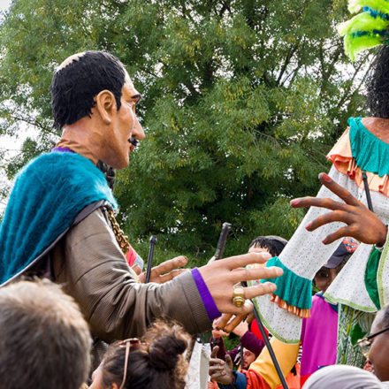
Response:
[[[335,202],[329,198],[317,197],[301,197],[292,200],[290,203],[294,208],[314,206],[332,210],[332,212],[317,217],[309,225],[306,225],[305,228],[308,231],[314,231],[328,223],[343,222],[346,225],[340,227],[335,233],[327,235],[323,240],[324,244],[330,244],[344,236],[351,236],[363,243],[383,246],[386,240],[387,226],[365,207],[362,202],[356,200],[347,189],[340,187],[327,174],[320,173],[319,180],[324,187],[327,187],[344,202]]]

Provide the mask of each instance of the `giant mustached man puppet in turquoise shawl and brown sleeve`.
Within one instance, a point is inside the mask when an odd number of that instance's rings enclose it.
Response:
[[[219,312],[248,311],[248,304],[233,303],[233,286],[278,277],[279,268],[244,269],[266,255],[226,258],[162,285],[141,284],[129,269],[107,217],[116,201],[96,168],[99,160],[125,168],[133,143],[145,136],[135,116],[141,96],[118,58],[100,51],[73,55],[57,68],[50,90],[54,126],[63,133],[51,153],[16,179],[0,231],[0,284],[49,274],[106,341],[140,335],[155,317],[176,319],[195,333],[210,329]],[[271,283],[248,287],[238,297],[274,289]]]

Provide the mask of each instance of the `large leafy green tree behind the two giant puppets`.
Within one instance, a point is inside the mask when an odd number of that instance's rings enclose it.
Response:
[[[8,174],[56,139],[55,65],[109,50],[144,96],[146,139],[115,188],[141,255],[154,233],[161,255],[201,264],[225,221],[225,255],[260,234],[290,238],[303,213],[289,200],[316,193],[325,154],[361,114],[368,57],[348,63],[343,19],[341,0],[13,0],[0,27],[0,134],[20,120],[40,131]]]

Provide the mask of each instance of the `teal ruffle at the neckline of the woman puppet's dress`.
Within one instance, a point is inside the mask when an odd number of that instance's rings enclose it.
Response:
[[[350,143],[357,166],[362,171],[389,174],[389,145],[381,141],[362,125],[361,118],[349,118]]]

